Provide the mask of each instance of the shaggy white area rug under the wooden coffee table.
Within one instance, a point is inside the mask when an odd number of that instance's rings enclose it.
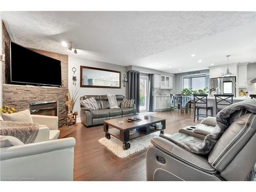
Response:
[[[129,141],[129,143],[131,144],[131,147],[128,150],[123,150],[122,141],[116,139],[113,136],[111,136],[111,139],[107,139],[105,137],[101,138],[101,139],[99,139],[99,142],[102,145],[106,146],[116,156],[118,156],[120,158],[125,158],[133,153],[139,152],[139,151],[143,150],[144,148],[152,145],[150,140],[153,137],[159,136],[159,134],[160,134],[160,130],[158,132],[155,132],[155,133],[152,133],[149,135],[145,135],[145,136],[142,136],[142,137],[139,137],[139,138]]]

